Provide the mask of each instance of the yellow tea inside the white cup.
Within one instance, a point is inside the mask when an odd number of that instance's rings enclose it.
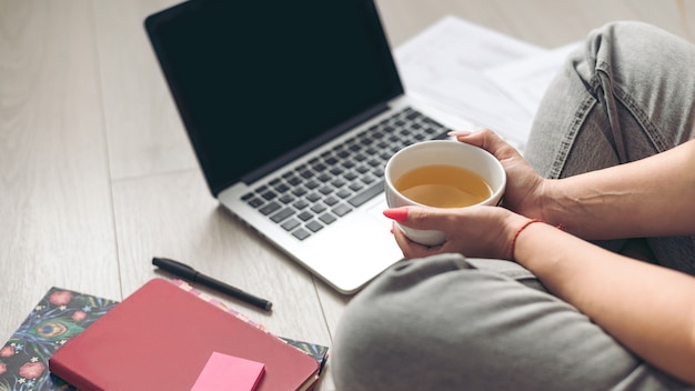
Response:
[[[394,186],[409,199],[436,208],[469,207],[492,196],[492,189],[481,176],[446,164],[413,169],[399,178]]]

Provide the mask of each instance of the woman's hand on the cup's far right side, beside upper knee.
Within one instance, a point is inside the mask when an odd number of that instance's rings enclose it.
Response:
[[[543,219],[543,194],[547,181],[538,176],[512,146],[490,129],[477,132],[453,131],[460,142],[480,147],[492,153],[506,172],[503,205],[520,214]]]

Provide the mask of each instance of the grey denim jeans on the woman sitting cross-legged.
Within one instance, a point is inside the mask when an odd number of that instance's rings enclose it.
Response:
[[[646,24],[607,24],[548,90],[526,157],[562,178],[658,153],[693,137],[694,100],[695,47]],[[659,264],[695,274],[691,237],[648,244]],[[518,264],[461,254],[385,271],[349,303],[332,351],[341,391],[686,388]]]

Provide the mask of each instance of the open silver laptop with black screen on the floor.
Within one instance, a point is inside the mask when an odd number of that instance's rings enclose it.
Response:
[[[403,258],[386,160],[471,126],[404,93],[373,0],[191,0],[144,24],[224,208],[342,293]]]

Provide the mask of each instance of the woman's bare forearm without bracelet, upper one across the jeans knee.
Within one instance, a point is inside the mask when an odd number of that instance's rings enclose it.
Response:
[[[695,233],[695,142],[628,164],[546,180],[543,219],[584,239]]]

